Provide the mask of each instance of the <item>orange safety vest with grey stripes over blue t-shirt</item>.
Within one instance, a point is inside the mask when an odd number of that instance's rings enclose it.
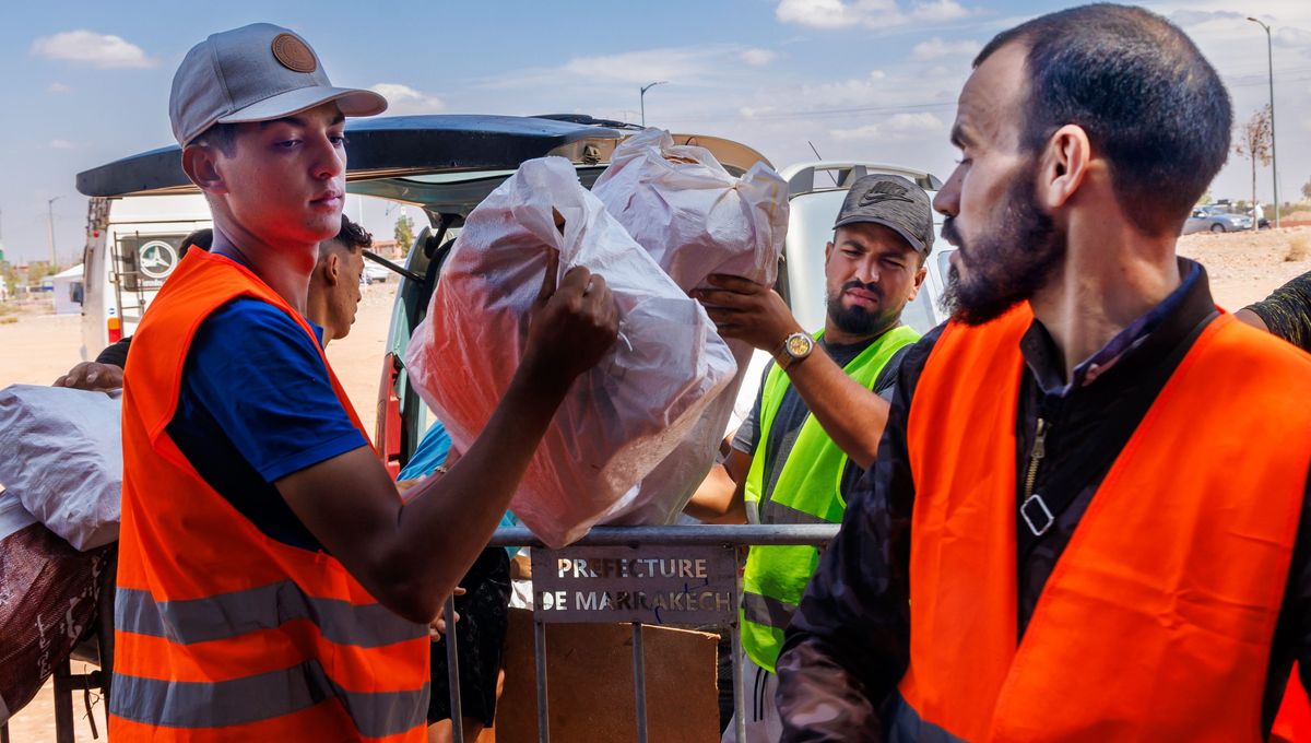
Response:
[[[384,608],[329,554],[265,536],[165,430],[191,338],[239,296],[311,333],[244,266],[190,250],[132,342],[110,738],[426,740],[427,628]]]

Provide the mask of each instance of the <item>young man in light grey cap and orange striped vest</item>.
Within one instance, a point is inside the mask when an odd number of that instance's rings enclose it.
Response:
[[[556,287],[548,267],[482,436],[397,497],[304,318],[341,227],[343,117],[384,107],[267,24],[177,71],[169,113],[214,245],[178,265],[125,372],[115,740],[423,740],[425,625],[615,339],[604,280]]]

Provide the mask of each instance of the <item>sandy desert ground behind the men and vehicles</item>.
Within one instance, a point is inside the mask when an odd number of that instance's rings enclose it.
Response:
[[[1301,246],[1301,248],[1299,248]],[[1217,303],[1238,309],[1265,297],[1283,282],[1311,271],[1311,227],[1259,233],[1194,235],[1180,241],[1180,253],[1201,261]],[[1291,253],[1291,256],[1290,256]],[[1286,259],[1286,258],[1297,259]],[[366,291],[355,326],[347,338],[328,347],[328,356],[366,429],[374,430],[375,400],[396,284]],[[16,318],[16,320],[9,320]],[[79,317],[43,314],[29,308],[0,314],[0,388],[9,384],[50,384],[79,360]],[[80,664],[75,664],[77,672]],[[81,698],[76,700],[77,740],[90,740]],[[54,740],[51,691],[10,721],[16,743]],[[104,705],[96,706],[97,727],[105,734]]]

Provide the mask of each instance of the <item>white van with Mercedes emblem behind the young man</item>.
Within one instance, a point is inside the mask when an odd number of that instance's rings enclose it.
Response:
[[[177,266],[182,238],[207,227],[214,221],[201,194],[90,199],[83,257],[83,360],[132,334]]]

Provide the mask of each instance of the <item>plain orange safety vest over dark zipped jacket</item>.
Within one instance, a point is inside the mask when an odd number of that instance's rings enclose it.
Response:
[[[949,324],[907,423],[910,667],[891,738],[1257,740],[1311,467],[1311,356],[1222,314],[1120,452],[1017,643],[1028,304]]]

